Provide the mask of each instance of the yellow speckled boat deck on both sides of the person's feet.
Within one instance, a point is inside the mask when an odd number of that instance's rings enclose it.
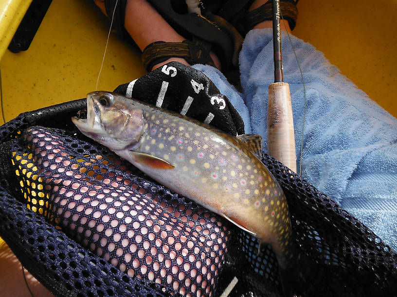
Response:
[[[397,116],[397,1],[300,0],[298,9],[294,34]],[[30,48],[6,50],[0,61],[6,121],[93,91],[107,33],[93,1],[53,0]],[[113,90],[144,73],[139,53],[111,34],[97,89]]]

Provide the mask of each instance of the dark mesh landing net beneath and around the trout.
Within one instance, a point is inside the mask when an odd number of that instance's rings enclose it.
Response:
[[[76,100],[0,127],[0,236],[58,296],[279,296],[269,246],[170,192],[77,132]],[[303,296],[394,296],[397,256],[265,155],[301,249]]]

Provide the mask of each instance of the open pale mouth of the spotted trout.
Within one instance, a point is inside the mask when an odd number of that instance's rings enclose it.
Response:
[[[103,130],[100,115],[101,110],[98,107],[96,102],[93,99],[93,96],[96,95],[96,92],[90,93],[87,95],[87,117],[80,118],[73,116],[72,122],[76,127],[83,132],[84,134],[100,134]]]

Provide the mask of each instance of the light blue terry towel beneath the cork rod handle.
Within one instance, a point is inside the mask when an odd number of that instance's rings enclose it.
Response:
[[[307,93],[301,175],[397,251],[397,119],[368,98],[324,54],[291,36]],[[305,96],[288,36],[282,36],[300,166]],[[271,29],[252,30],[240,53],[243,93],[211,66],[195,65],[234,104],[246,132],[267,150],[267,99],[274,82]]]

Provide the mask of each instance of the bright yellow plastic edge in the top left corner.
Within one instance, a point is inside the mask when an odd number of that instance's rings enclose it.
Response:
[[[0,60],[32,0],[0,0]]]

